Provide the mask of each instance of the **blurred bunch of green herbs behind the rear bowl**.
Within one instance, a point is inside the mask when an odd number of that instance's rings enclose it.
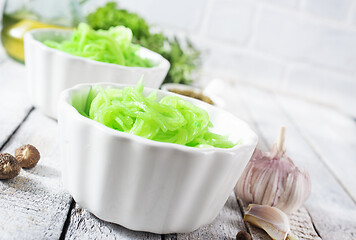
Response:
[[[199,65],[200,53],[189,40],[183,48],[177,38],[169,39],[163,33],[152,33],[147,22],[135,13],[118,9],[115,2],[107,3],[87,16],[94,29],[109,29],[123,25],[133,32],[133,42],[161,54],[171,63],[165,83],[189,84],[192,72]]]

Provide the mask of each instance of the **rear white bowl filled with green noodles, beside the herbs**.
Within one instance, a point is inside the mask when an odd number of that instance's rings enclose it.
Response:
[[[93,30],[81,23],[74,30],[36,29],[24,38],[28,91],[32,104],[56,118],[62,90],[80,83],[136,84],[158,88],[169,62],[161,55],[132,43],[123,26]]]

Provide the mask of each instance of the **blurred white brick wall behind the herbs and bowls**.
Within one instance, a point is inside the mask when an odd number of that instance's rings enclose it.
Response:
[[[8,15],[73,26],[108,1],[0,0]],[[119,0],[153,31],[201,52],[212,77],[306,98],[356,117],[356,0]],[[19,11],[21,10],[21,11]],[[26,14],[24,14],[26,12]],[[6,20],[6,19],[5,19]]]

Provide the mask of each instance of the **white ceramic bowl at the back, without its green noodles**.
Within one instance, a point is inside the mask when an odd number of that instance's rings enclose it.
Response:
[[[144,75],[146,86],[158,88],[163,82],[169,62],[161,55],[140,48],[140,56],[151,59],[152,68],[126,67],[74,56],[47,47],[43,40],[64,40],[71,30],[36,29],[24,38],[28,90],[32,104],[44,114],[56,118],[60,92],[79,83],[114,82],[136,84]]]

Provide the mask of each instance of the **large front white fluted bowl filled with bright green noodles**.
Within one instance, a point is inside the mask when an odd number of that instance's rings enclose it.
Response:
[[[159,234],[209,224],[257,144],[234,115],[142,83],[80,84],[58,106],[62,180],[97,217]]]

